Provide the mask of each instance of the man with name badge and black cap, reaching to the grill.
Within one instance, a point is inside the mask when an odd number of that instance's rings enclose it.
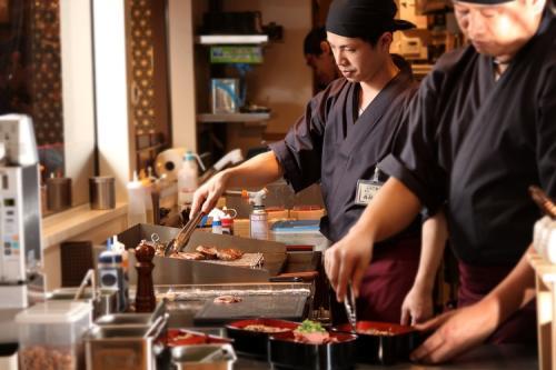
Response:
[[[386,180],[376,163],[404,142],[398,122],[416,91],[411,74],[400,72],[389,53],[393,32],[413,27],[395,20],[396,11],[393,0],[334,1],[326,27],[344,77],[309,101],[271,151],[200,187],[191,211],[209,211],[228,187],[261,187],[284,177],[300,191],[320,182],[327,210],[320,230],[332,242],[344,237]],[[361,319],[399,322],[419,264],[420,228],[414,217],[377,250],[357,303]]]

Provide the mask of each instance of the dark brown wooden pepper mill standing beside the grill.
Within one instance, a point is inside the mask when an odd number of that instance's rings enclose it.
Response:
[[[157,306],[155,284],[152,283],[152,269],[155,264],[155,247],[142,240],[136,248],[137,294],[136,312],[152,312]]]

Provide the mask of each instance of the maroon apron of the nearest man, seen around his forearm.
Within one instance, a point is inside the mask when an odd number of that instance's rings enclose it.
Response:
[[[488,294],[514,267],[477,267],[459,262],[458,307],[470,306]],[[492,343],[527,343],[537,341],[535,300],[504,321],[487,339]]]

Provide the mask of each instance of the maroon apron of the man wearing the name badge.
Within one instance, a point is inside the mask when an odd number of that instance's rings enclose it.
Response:
[[[401,304],[419,267],[420,238],[377,246],[361,282],[357,319],[399,323]]]

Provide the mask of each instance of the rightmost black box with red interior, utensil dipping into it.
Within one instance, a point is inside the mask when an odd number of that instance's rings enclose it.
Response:
[[[331,330],[353,332],[353,327],[346,323]],[[365,363],[393,364],[407,361],[409,353],[423,341],[421,334],[413,327],[390,322],[358,321],[356,332],[357,361]]]

